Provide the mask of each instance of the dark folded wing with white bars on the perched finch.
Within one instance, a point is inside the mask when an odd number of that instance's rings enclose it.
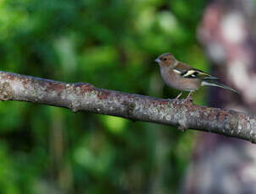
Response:
[[[209,79],[219,79],[211,76],[208,73],[204,73],[203,71],[190,67],[186,63],[179,62],[176,67],[173,68],[173,71],[180,73],[182,78],[199,78],[199,79],[204,79],[204,80],[209,80]]]

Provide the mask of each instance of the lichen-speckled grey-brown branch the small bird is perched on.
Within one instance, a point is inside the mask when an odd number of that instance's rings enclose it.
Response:
[[[256,143],[256,116],[210,108],[184,100],[163,100],[139,94],[97,89],[92,84],[67,84],[0,71],[0,100],[54,105],[237,137]]]

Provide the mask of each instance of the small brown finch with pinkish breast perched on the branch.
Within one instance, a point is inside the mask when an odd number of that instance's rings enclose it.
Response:
[[[187,102],[191,94],[201,86],[215,86],[237,93],[237,90],[221,84],[219,78],[193,68],[184,62],[179,62],[170,52],[161,54],[155,59],[155,62],[160,66],[161,77],[167,86],[181,90],[182,92],[189,92],[185,99]],[[182,92],[177,95],[175,100],[179,99]]]

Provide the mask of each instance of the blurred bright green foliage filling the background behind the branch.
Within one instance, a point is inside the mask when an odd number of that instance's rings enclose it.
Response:
[[[3,71],[171,98],[155,57],[207,70],[203,0],[2,0]],[[204,104],[204,91],[194,94]],[[0,103],[0,193],[176,193],[193,132],[24,102]]]

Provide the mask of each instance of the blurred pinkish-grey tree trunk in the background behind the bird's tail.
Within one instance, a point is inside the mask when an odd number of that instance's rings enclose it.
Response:
[[[255,113],[256,36],[252,0],[213,0],[204,10],[199,41],[213,74],[241,95],[212,87],[210,105]],[[200,133],[181,193],[256,193],[252,143]]]

